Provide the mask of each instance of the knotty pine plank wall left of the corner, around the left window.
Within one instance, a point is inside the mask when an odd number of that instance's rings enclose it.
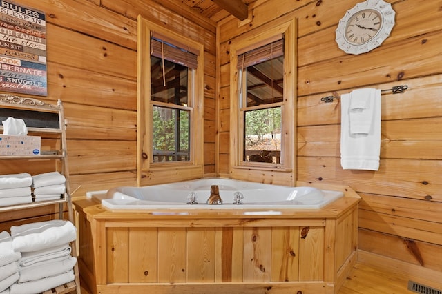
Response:
[[[46,12],[48,96],[36,98],[64,102],[73,197],[136,185],[138,14],[204,43],[204,173],[215,175],[214,21],[151,0],[18,2]]]

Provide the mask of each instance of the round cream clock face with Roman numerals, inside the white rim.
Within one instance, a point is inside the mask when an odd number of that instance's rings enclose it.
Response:
[[[349,43],[360,45],[373,39],[382,26],[381,14],[376,10],[365,9],[349,18],[345,27],[345,39]]]

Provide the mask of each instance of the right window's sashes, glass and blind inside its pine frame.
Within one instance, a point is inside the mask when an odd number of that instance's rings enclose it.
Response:
[[[284,40],[238,55],[242,161],[280,164]]]

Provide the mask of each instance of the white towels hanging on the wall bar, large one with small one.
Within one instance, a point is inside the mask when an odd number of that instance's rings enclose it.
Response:
[[[340,96],[340,107],[341,166],[350,170],[378,170],[381,90],[365,88],[343,94]]]

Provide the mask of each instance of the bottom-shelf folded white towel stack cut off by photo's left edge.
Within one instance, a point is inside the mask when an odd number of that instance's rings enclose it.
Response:
[[[0,293],[9,293],[9,287],[19,280],[21,254],[12,250],[12,237],[7,231],[0,233]]]

